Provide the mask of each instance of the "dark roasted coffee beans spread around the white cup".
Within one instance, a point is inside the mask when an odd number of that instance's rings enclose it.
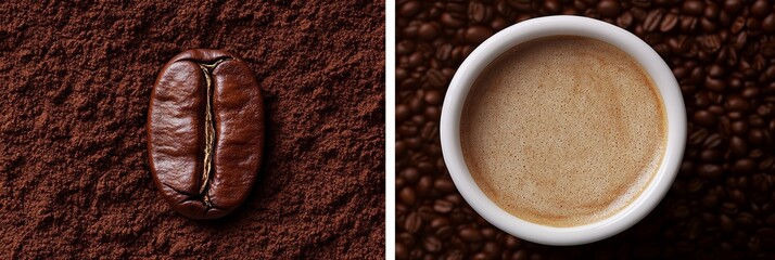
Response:
[[[775,258],[775,4],[765,0],[398,1],[398,259]],[[569,14],[627,29],[670,65],[687,106],[677,179],[643,221],[574,247],[524,242],[466,204],[439,119],[463,58],[496,31]]]

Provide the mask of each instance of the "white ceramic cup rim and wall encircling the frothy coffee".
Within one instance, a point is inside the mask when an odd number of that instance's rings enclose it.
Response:
[[[460,114],[480,73],[501,53],[525,41],[548,36],[582,36],[608,42],[633,56],[659,89],[666,113],[668,144],[662,164],[644,192],[624,209],[601,221],[556,227],[528,222],[493,203],[468,171],[460,148]],[[458,191],[471,207],[498,229],[546,245],[579,245],[618,234],[640,221],[664,197],[678,171],[686,143],[686,108],[672,70],[646,42],[611,24],[579,16],[548,16],[510,26],[484,41],[460,65],[449,84],[441,118],[444,161]]]

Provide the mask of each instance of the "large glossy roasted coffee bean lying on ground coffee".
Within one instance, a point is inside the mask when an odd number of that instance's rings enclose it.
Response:
[[[246,197],[264,146],[264,105],[247,65],[219,50],[189,50],[158,74],[148,112],[154,182],[191,219],[220,218]]]

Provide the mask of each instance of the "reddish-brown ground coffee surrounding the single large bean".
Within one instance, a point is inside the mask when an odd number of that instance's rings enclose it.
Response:
[[[384,255],[384,3],[0,2],[0,258]],[[161,67],[193,48],[242,57],[265,98],[259,177],[193,221],[153,183]]]

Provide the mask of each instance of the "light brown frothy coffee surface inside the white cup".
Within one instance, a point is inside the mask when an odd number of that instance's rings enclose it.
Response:
[[[484,69],[466,100],[460,143],[473,180],[500,208],[577,226],[640,195],[661,164],[665,120],[632,56],[555,36],[519,44]]]

